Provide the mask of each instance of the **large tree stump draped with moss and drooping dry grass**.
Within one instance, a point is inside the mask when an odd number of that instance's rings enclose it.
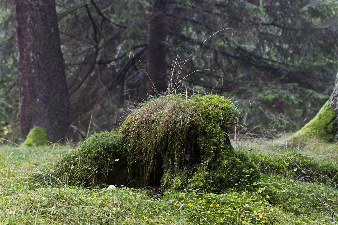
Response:
[[[219,95],[168,95],[144,103],[129,114],[118,132],[133,184],[204,191],[244,189],[259,172],[230,143],[228,128],[237,120],[233,102]]]

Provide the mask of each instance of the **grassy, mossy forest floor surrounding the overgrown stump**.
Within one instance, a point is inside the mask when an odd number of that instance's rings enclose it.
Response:
[[[73,147],[1,146],[0,224],[338,223],[335,144],[314,140],[296,145],[286,139],[233,144],[247,151],[262,172],[247,190],[157,196],[122,186],[107,190],[35,182],[29,179],[33,173],[50,168]]]

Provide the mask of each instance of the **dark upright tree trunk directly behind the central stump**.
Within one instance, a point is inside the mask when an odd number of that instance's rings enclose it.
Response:
[[[167,91],[166,64],[166,0],[156,0],[153,14],[148,17],[148,90]]]

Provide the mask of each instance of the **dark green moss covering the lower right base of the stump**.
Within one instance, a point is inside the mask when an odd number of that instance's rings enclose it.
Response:
[[[239,190],[250,188],[247,184],[259,179],[260,173],[252,159],[245,152],[231,149],[202,159],[191,168],[166,170],[163,185],[169,189],[192,189],[203,192],[221,192],[230,188]],[[170,168],[165,165],[164,168]]]

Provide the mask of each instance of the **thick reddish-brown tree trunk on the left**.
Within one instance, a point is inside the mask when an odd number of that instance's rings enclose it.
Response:
[[[23,138],[34,126],[54,142],[74,122],[60,46],[55,0],[14,0]]]

